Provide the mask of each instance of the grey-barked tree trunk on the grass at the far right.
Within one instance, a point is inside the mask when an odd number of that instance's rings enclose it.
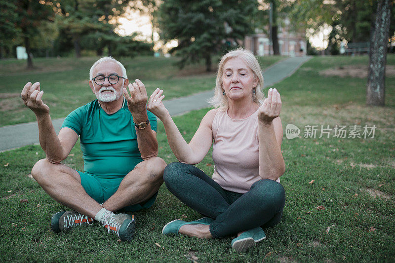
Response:
[[[366,104],[384,106],[388,31],[391,19],[391,0],[380,0],[370,36],[369,71]]]

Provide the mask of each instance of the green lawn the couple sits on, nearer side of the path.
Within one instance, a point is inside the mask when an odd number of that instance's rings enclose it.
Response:
[[[29,177],[44,153],[39,146],[28,146],[0,153],[0,260],[394,262],[395,76],[387,77],[388,106],[383,108],[365,106],[365,78],[322,75],[335,67],[366,65],[367,60],[315,57],[276,84],[283,102],[284,214],[278,225],[265,229],[268,238],[247,252],[233,251],[231,238],[163,236],[161,229],[169,221],[201,217],[165,186],[151,209],[136,213],[137,233],[132,243],[117,242],[114,234],[107,234],[97,223],[55,234],[49,227],[50,218],[66,208]],[[395,56],[389,56],[388,64],[395,65]],[[174,117],[187,141],[208,110]],[[285,138],[289,123],[301,129],[299,138]],[[377,126],[374,138],[336,138],[333,130],[329,138],[318,138],[320,125],[365,124]],[[306,125],[318,125],[316,138],[303,138]],[[158,142],[159,156],[167,163],[175,161],[161,123]],[[83,169],[79,144],[64,163]],[[197,167],[212,174],[211,150]]]

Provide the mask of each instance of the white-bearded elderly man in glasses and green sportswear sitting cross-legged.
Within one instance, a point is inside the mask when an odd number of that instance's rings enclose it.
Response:
[[[53,215],[54,232],[93,224],[94,218],[120,240],[130,241],[134,216],[114,212],[135,212],[155,202],[166,166],[157,157],[157,119],[146,110],[143,83],[138,79],[128,83],[126,70],[117,60],[96,61],[89,72],[89,86],[97,100],[70,113],[59,135],[41,100],[40,83],[28,82],[22,90],[25,105],[36,114],[46,154],[34,165],[32,176],[53,199],[73,210]],[[84,172],[60,163],[79,137]]]

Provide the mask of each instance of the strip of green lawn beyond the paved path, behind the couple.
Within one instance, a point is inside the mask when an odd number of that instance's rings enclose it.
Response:
[[[263,69],[284,57],[259,58]],[[37,58],[35,69],[26,70],[26,61],[0,61],[0,126],[35,121],[35,115],[22,103],[24,85],[40,81],[43,101],[52,118],[65,117],[76,108],[96,99],[88,86],[89,69],[97,57]],[[188,65],[179,70],[173,64],[177,58],[149,56],[121,58],[130,81],[139,78],[147,87],[148,96],[160,87],[166,99],[182,97],[215,86],[215,72],[206,73],[204,65]],[[214,63],[216,65],[216,63]],[[213,66],[214,68],[214,66]]]

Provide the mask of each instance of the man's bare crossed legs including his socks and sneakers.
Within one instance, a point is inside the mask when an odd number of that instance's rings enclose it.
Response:
[[[145,208],[138,204],[155,199],[163,183],[165,166],[166,163],[159,157],[140,162],[122,179],[113,195],[108,199],[104,197],[107,200],[92,198],[90,195],[95,194],[88,190],[89,195],[81,185],[79,172],[64,164],[54,164],[47,159],[41,159],[34,165],[32,176],[53,199],[74,210],[54,215],[51,228],[55,232],[69,230],[75,225],[93,224],[95,219],[108,231],[116,233],[122,241],[130,241],[134,235],[134,217],[127,214],[115,215],[114,212],[135,205]],[[104,202],[100,204],[101,201]],[[147,203],[152,205],[153,202]],[[135,209],[138,208],[135,206]]]

